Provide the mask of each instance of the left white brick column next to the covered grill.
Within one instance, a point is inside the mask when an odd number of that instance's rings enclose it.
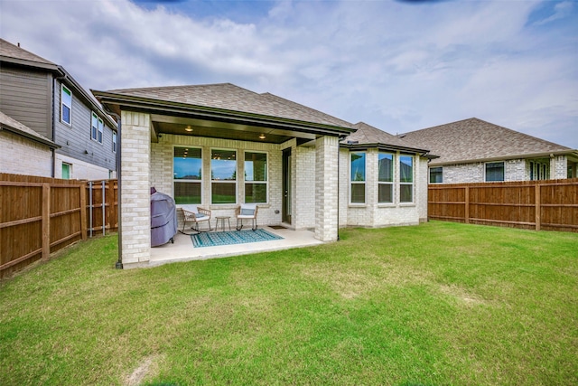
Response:
[[[121,253],[125,268],[148,263],[151,255],[151,118],[122,112]]]

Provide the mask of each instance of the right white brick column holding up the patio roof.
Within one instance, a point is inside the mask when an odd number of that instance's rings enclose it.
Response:
[[[315,238],[337,240],[338,137],[315,142]]]

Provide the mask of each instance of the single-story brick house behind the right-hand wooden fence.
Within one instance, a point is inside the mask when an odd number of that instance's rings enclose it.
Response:
[[[399,137],[430,149],[430,183],[575,178],[578,150],[470,118]]]

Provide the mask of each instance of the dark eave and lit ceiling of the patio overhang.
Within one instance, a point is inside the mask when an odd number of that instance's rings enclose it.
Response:
[[[153,142],[158,141],[158,137],[163,134],[172,134],[275,144],[298,138],[304,143],[323,136],[345,137],[356,131],[354,127],[279,118],[115,92],[92,90],[92,93],[108,111],[118,116],[122,110],[150,114]]]

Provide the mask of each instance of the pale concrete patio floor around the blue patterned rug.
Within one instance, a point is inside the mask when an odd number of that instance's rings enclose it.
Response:
[[[277,236],[281,236],[283,239],[193,248],[190,235],[177,233],[174,237],[174,243],[168,242],[167,244],[151,249],[149,265],[159,266],[177,261],[225,258],[249,253],[269,252],[272,250],[311,247],[323,243],[321,240],[315,239],[315,234],[312,231],[294,231],[286,228],[279,229],[279,227],[273,229],[268,226],[260,228]]]

